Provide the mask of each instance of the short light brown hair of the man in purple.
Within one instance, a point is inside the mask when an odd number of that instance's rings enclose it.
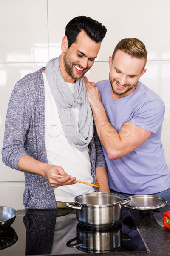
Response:
[[[130,54],[132,57],[144,58],[145,64],[147,62],[146,47],[144,43],[137,38],[124,38],[121,41],[119,41],[119,43],[116,45],[114,49],[112,59],[114,59],[114,55],[118,50],[121,50],[123,52]],[[145,64],[144,64],[144,67],[145,67]]]

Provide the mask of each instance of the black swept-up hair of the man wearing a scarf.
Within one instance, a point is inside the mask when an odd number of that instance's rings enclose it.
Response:
[[[70,20],[65,27],[65,35],[68,39],[68,48],[71,44],[75,43],[77,40],[77,35],[81,31],[85,31],[89,38],[91,38],[96,43],[102,42],[107,29],[102,23],[93,20],[86,16],[75,17]]]

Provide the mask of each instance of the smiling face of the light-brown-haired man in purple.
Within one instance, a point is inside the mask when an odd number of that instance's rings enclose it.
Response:
[[[119,99],[133,93],[139,78],[146,72],[143,69],[144,58],[136,58],[118,50],[114,59],[109,57],[109,79],[112,86],[113,100]]]

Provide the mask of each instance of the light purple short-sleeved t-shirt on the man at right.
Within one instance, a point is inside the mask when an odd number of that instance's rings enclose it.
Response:
[[[153,194],[170,187],[170,171],[167,167],[161,143],[162,122],[165,107],[160,97],[141,82],[136,90],[121,99],[112,99],[109,80],[96,84],[109,122],[117,132],[130,121],[152,132],[149,139],[125,157],[110,160],[103,152],[107,164],[109,188],[128,194]]]

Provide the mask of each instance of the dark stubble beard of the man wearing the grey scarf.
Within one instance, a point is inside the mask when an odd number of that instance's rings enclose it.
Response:
[[[76,62],[75,62],[75,63],[71,62],[71,59],[70,59],[67,55],[68,55],[68,53],[66,52],[65,55],[64,55],[64,58],[63,58],[63,60],[64,60],[64,67],[65,67],[66,72],[68,73],[69,76],[71,76],[71,77],[74,78],[74,79],[80,79],[80,78],[82,78],[82,76],[84,76],[85,73],[86,73],[90,68],[87,67],[87,68],[85,68],[85,69],[83,70],[82,73],[77,73],[76,70],[74,69],[74,66],[76,65],[76,66],[78,66],[79,68],[83,68],[83,67],[81,67],[81,66],[80,66],[79,64],[77,64]]]

